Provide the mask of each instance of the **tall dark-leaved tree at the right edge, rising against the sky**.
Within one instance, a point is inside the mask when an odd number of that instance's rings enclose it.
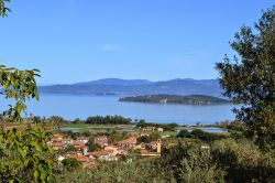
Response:
[[[237,118],[248,125],[246,136],[262,149],[275,149],[275,6],[263,13],[255,29],[243,26],[231,46],[239,54],[217,63],[224,95]],[[241,62],[240,62],[241,60]]]

